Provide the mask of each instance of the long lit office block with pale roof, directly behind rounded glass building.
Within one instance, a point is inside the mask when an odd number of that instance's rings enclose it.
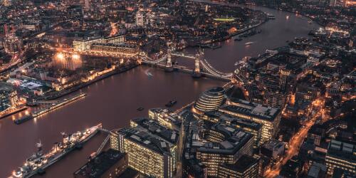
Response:
[[[261,144],[276,135],[281,120],[280,109],[250,103],[246,100],[235,100],[232,105],[222,107],[219,111],[260,123],[262,125]]]

